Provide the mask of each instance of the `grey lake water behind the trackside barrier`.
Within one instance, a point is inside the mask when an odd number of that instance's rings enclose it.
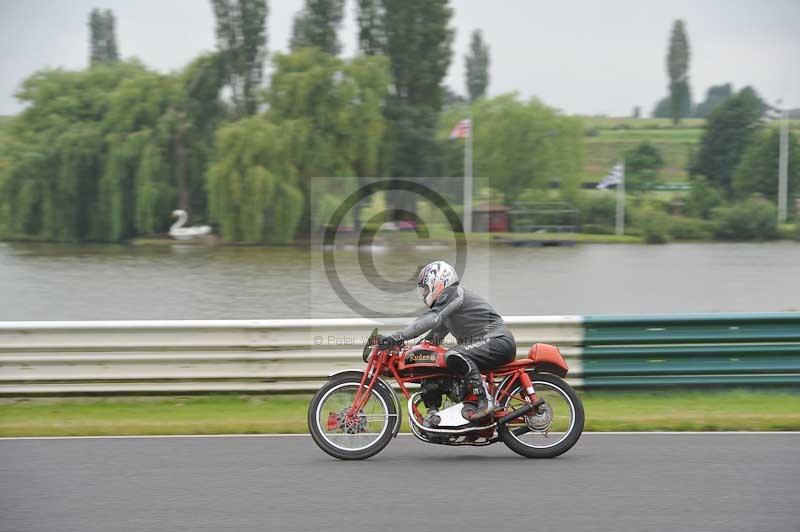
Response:
[[[463,284],[505,315],[800,310],[800,244],[791,242],[467,251]],[[329,272],[352,301],[408,314],[420,308],[410,280],[418,265],[454,253],[344,248]],[[0,320],[359,315],[341,293],[318,250],[0,243]]]

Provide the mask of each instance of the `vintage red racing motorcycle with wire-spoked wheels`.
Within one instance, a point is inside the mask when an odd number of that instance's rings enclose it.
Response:
[[[378,330],[364,347],[362,370],[344,370],[314,394],[308,428],[319,447],[342,460],[363,460],[397,436],[402,409],[385,378],[394,379],[408,400],[409,428],[426,443],[491,445],[502,441],[526,458],[567,452],[583,432],[583,404],[563,380],[569,368],[558,348],[534,344],[528,357],[483,372],[495,402],[493,416],[470,421],[475,396],[447,369],[446,348],[429,342],[381,348]],[[412,393],[409,384],[421,384]],[[441,394],[430,415],[422,396]]]

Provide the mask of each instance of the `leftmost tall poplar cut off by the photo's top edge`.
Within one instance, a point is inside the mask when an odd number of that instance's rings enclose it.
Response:
[[[255,114],[267,54],[266,0],[211,0],[217,47],[237,116]]]

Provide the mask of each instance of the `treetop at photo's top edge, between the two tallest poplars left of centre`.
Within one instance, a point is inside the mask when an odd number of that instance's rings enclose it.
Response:
[[[341,50],[338,32],[344,17],[344,0],[306,0],[295,15],[290,48],[315,46],[323,52],[338,55]]]

